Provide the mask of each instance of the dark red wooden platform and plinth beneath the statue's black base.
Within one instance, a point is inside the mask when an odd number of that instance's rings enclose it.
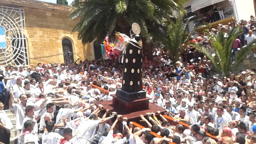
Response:
[[[146,115],[146,113],[156,113],[157,111],[164,112],[165,109],[158,107],[155,104],[149,103],[150,98],[143,98],[133,101],[125,101],[118,98],[116,95],[111,95],[113,100],[99,101],[96,105],[103,105],[104,109],[117,112],[122,117],[127,117],[128,121],[140,121],[140,115]]]

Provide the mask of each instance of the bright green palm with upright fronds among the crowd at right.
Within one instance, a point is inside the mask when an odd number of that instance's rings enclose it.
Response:
[[[247,54],[249,54],[253,47],[255,47],[254,43],[256,43],[256,39],[252,41],[251,44],[248,44],[241,48],[240,51],[236,51],[235,53],[235,64],[232,65],[231,60],[231,51],[233,49],[234,41],[237,37],[243,34],[244,31],[238,31],[238,27],[232,29],[228,33],[228,38],[224,37],[224,32],[220,31],[217,36],[210,36],[212,48],[215,53],[212,54],[208,48],[201,46],[199,44],[191,44],[197,50],[201,51],[206,55],[206,57],[211,60],[213,67],[219,73],[224,74],[224,76],[229,77],[230,72],[234,71],[236,67],[246,58]]]

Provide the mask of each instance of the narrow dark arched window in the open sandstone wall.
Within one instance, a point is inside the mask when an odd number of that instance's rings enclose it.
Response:
[[[65,64],[72,64],[73,58],[73,48],[72,43],[69,39],[63,38],[62,40],[62,50]]]

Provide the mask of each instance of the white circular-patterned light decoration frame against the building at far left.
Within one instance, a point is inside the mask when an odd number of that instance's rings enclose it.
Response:
[[[28,65],[24,10],[0,6],[0,27],[4,27],[6,38],[6,47],[0,47],[0,66]]]

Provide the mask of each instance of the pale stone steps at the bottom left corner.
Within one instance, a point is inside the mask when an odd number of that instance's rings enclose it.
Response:
[[[11,112],[11,110],[4,110],[7,114],[7,116],[10,118],[10,120],[12,121],[12,124],[13,124],[13,128],[12,128],[12,131],[11,131],[11,139],[10,139],[10,144],[14,144],[14,140],[19,138],[19,135],[20,135],[20,131],[19,130],[16,130],[16,127],[15,127],[15,124],[16,124],[16,117],[15,117],[15,114],[13,114]]]

